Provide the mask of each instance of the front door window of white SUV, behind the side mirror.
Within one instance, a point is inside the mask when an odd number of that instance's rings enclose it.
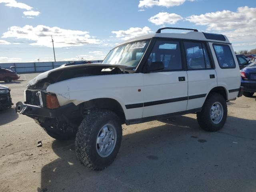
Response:
[[[164,70],[182,70],[180,42],[157,40],[148,57],[148,63],[161,61]]]

